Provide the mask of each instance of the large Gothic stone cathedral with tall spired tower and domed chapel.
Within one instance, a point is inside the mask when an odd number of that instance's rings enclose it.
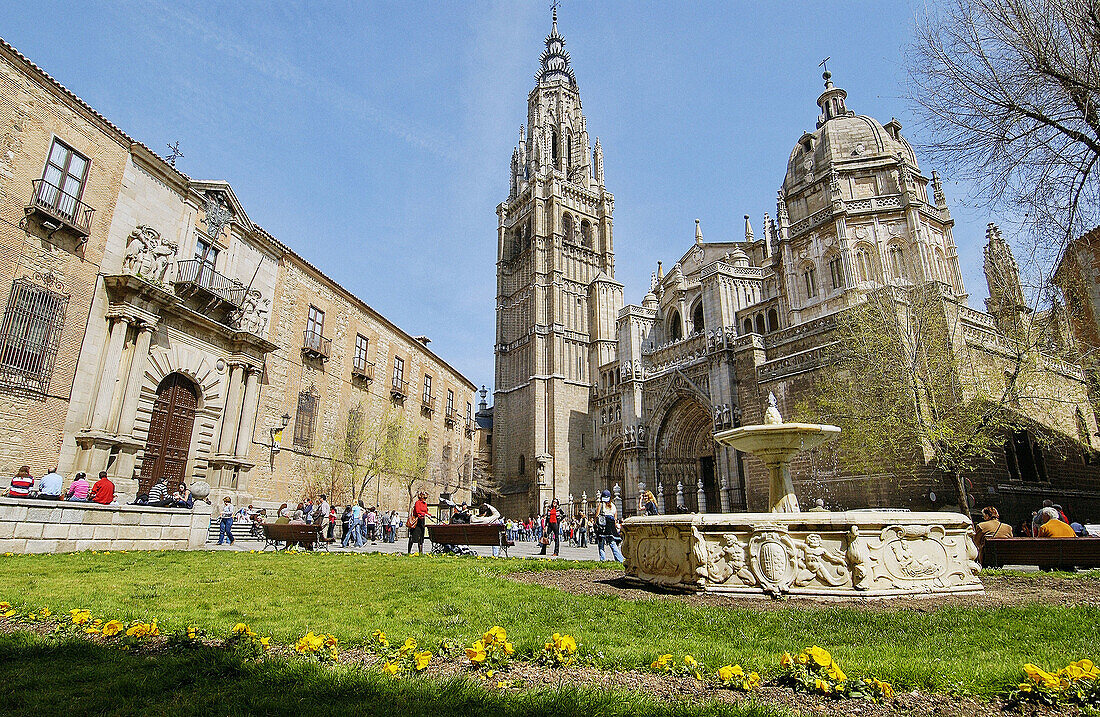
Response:
[[[967,305],[939,177],[922,174],[898,120],[849,110],[827,70],[816,128],[794,143],[774,219],[765,213],[757,232],[746,216],[736,241],[705,240],[696,220],[684,254],[668,268],[657,262],[640,304],[625,305],[603,147],[590,144],[564,45],[554,13],[497,207],[493,472],[507,514],[534,514],[554,498],[575,510],[604,489],[626,515],[645,489],[668,512],[766,509],[762,465],[713,434],[760,422],[769,394],[792,416],[828,369],[838,319],[870,293],[935,297],[937,316],[957,328],[944,350],[970,367],[958,376],[968,395],[1005,380],[1009,342],[1023,323],[1064,326],[1031,316],[993,224],[989,311]],[[1011,512],[1069,490],[1081,509],[1098,510],[1097,420],[1084,374],[1054,355],[1036,361],[1058,400],[1019,406],[1032,428],[1004,437],[963,499]],[[1044,452],[1036,431],[1068,437],[1075,450]],[[794,479],[803,496],[837,508],[959,501],[954,482],[913,467],[905,478],[857,475],[843,455],[811,454]]]

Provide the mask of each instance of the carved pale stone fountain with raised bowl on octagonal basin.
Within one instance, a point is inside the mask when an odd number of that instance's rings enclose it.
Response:
[[[645,516],[624,522],[629,577],[708,593],[888,598],[983,592],[970,521],[955,512],[799,510],[791,459],[840,429],[765,422],[715,433],[763,461],[770,512]]]

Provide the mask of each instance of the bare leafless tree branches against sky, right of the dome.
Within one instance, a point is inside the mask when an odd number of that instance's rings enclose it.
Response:
[[[917,23],[924,150],[1027,225],[1053,261],[1098,222],[1100,3],[954,0]]]

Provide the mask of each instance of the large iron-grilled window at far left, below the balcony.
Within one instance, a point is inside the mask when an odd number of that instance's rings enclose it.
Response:
[[[47,393],[68,297],[15,279],[0,326],[0,384]]]

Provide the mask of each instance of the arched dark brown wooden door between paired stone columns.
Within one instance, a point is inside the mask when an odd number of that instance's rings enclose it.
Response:
[[[172,490],[184,479],[198,402],[198,389],[183,374],[168,374],[156,387],[138,481],[139,495],[148,493],[161,478],[167,479]]]

